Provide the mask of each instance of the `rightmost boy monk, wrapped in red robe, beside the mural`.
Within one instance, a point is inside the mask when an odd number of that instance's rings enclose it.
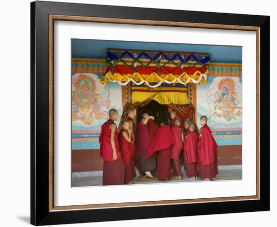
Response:
[[[207,117],[200,118],[200,136],[198,140],[198,171],[203,181],[216,180],[218,174],[218,150],[212,131],[207,126]]]

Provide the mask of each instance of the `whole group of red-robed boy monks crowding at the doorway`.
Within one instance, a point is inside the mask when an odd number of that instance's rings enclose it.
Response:
[[[180,155],[184,160],[185,176],[190,180],[216,180],[218,174],[217,143],[207,126],[207,117],[200,118],[201,128],[189,120],[183,127],[175,111],[170,120],[160,126],[148,113],[134,124],[134,111],[129,110],[127,120],[117,134],[118,112],[109,110],[109,120],[101,126],[100,156],[103,158],[103,185],[133,184],[135,167],[144,177],[168,181],[171,175],[182,179]],[[135,135],[137,134],[137,135]]]

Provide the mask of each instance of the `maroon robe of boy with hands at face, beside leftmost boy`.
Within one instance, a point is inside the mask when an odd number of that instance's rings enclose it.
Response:
[[[125,165],[124,182],[127,183],[132,181],[132,179],[136,177],[136,173],[135,173],[134,164],[131,156],[132,143],[128,142],[125,139],[125,137],[123,136],[123,132],[126,132],[127,135],[129,135],[129,133],[123,128],[119,132],[120,151]]]

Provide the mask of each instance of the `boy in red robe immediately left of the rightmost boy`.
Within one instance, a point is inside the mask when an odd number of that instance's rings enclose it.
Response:
[[[195,180],[197,178],[197,142],[198,134],[195,131],[195,124],[191,123],[189,125],[189,132],[187,133],[184,141],[186,176],[189,177],[190,180]]]

